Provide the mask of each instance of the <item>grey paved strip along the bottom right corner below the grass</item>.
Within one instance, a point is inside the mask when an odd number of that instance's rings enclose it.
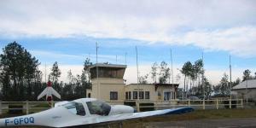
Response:
[[[143,123],[146,128],[256,128],[256,118],[199,119]]]

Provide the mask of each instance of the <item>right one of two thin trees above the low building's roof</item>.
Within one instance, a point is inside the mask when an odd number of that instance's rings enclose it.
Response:
[[[159,77],[159,83],[165,84],[167,82],[167,79],[170,77],[170,68],[167,67],[167,63],[165,61],[162,61],[160,64],[160,77]]]

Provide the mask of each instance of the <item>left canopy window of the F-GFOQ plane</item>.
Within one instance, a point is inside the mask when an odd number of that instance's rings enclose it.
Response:
[[[67,110],[71,113],[75,113],[78,115],[85,115],[84,105],[80,102],[67,102],[66,104],[62,105],[64,108],[67,108]]]

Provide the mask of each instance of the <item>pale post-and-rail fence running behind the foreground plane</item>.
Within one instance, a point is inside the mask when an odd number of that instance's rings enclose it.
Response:
[[[125,101],[131,102],[139,112],[143,108],[165,109],[191,107],[195,109],[243,108],[242,99],[215,99],[215,100],[171,100],[171,101]],[[20,110],[22,113],[37,113],[52,108],[55,102],[2,102],[0,114],[10,110]],[[111,105],[124,104],[121,101],[108,102]],[[12,107],[11,107],[12,106]]]

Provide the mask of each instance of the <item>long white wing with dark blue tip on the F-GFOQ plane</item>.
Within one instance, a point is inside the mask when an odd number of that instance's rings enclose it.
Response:
[[[83,127],[85,125],[99,125],[104,123],[118,122],[121,120],[127,119],[139,119],[144,117],[160,116],[160,115],[170,115],[170,114],[180,114],[180,113],[189,113],[194,111],[193,108],[172,108],[164,110],[155,110],[141,113],[122,113],[109,116],[98,116],[96,118],[73,120],[70,122],[63,123],[58,125],[58,127]]]

